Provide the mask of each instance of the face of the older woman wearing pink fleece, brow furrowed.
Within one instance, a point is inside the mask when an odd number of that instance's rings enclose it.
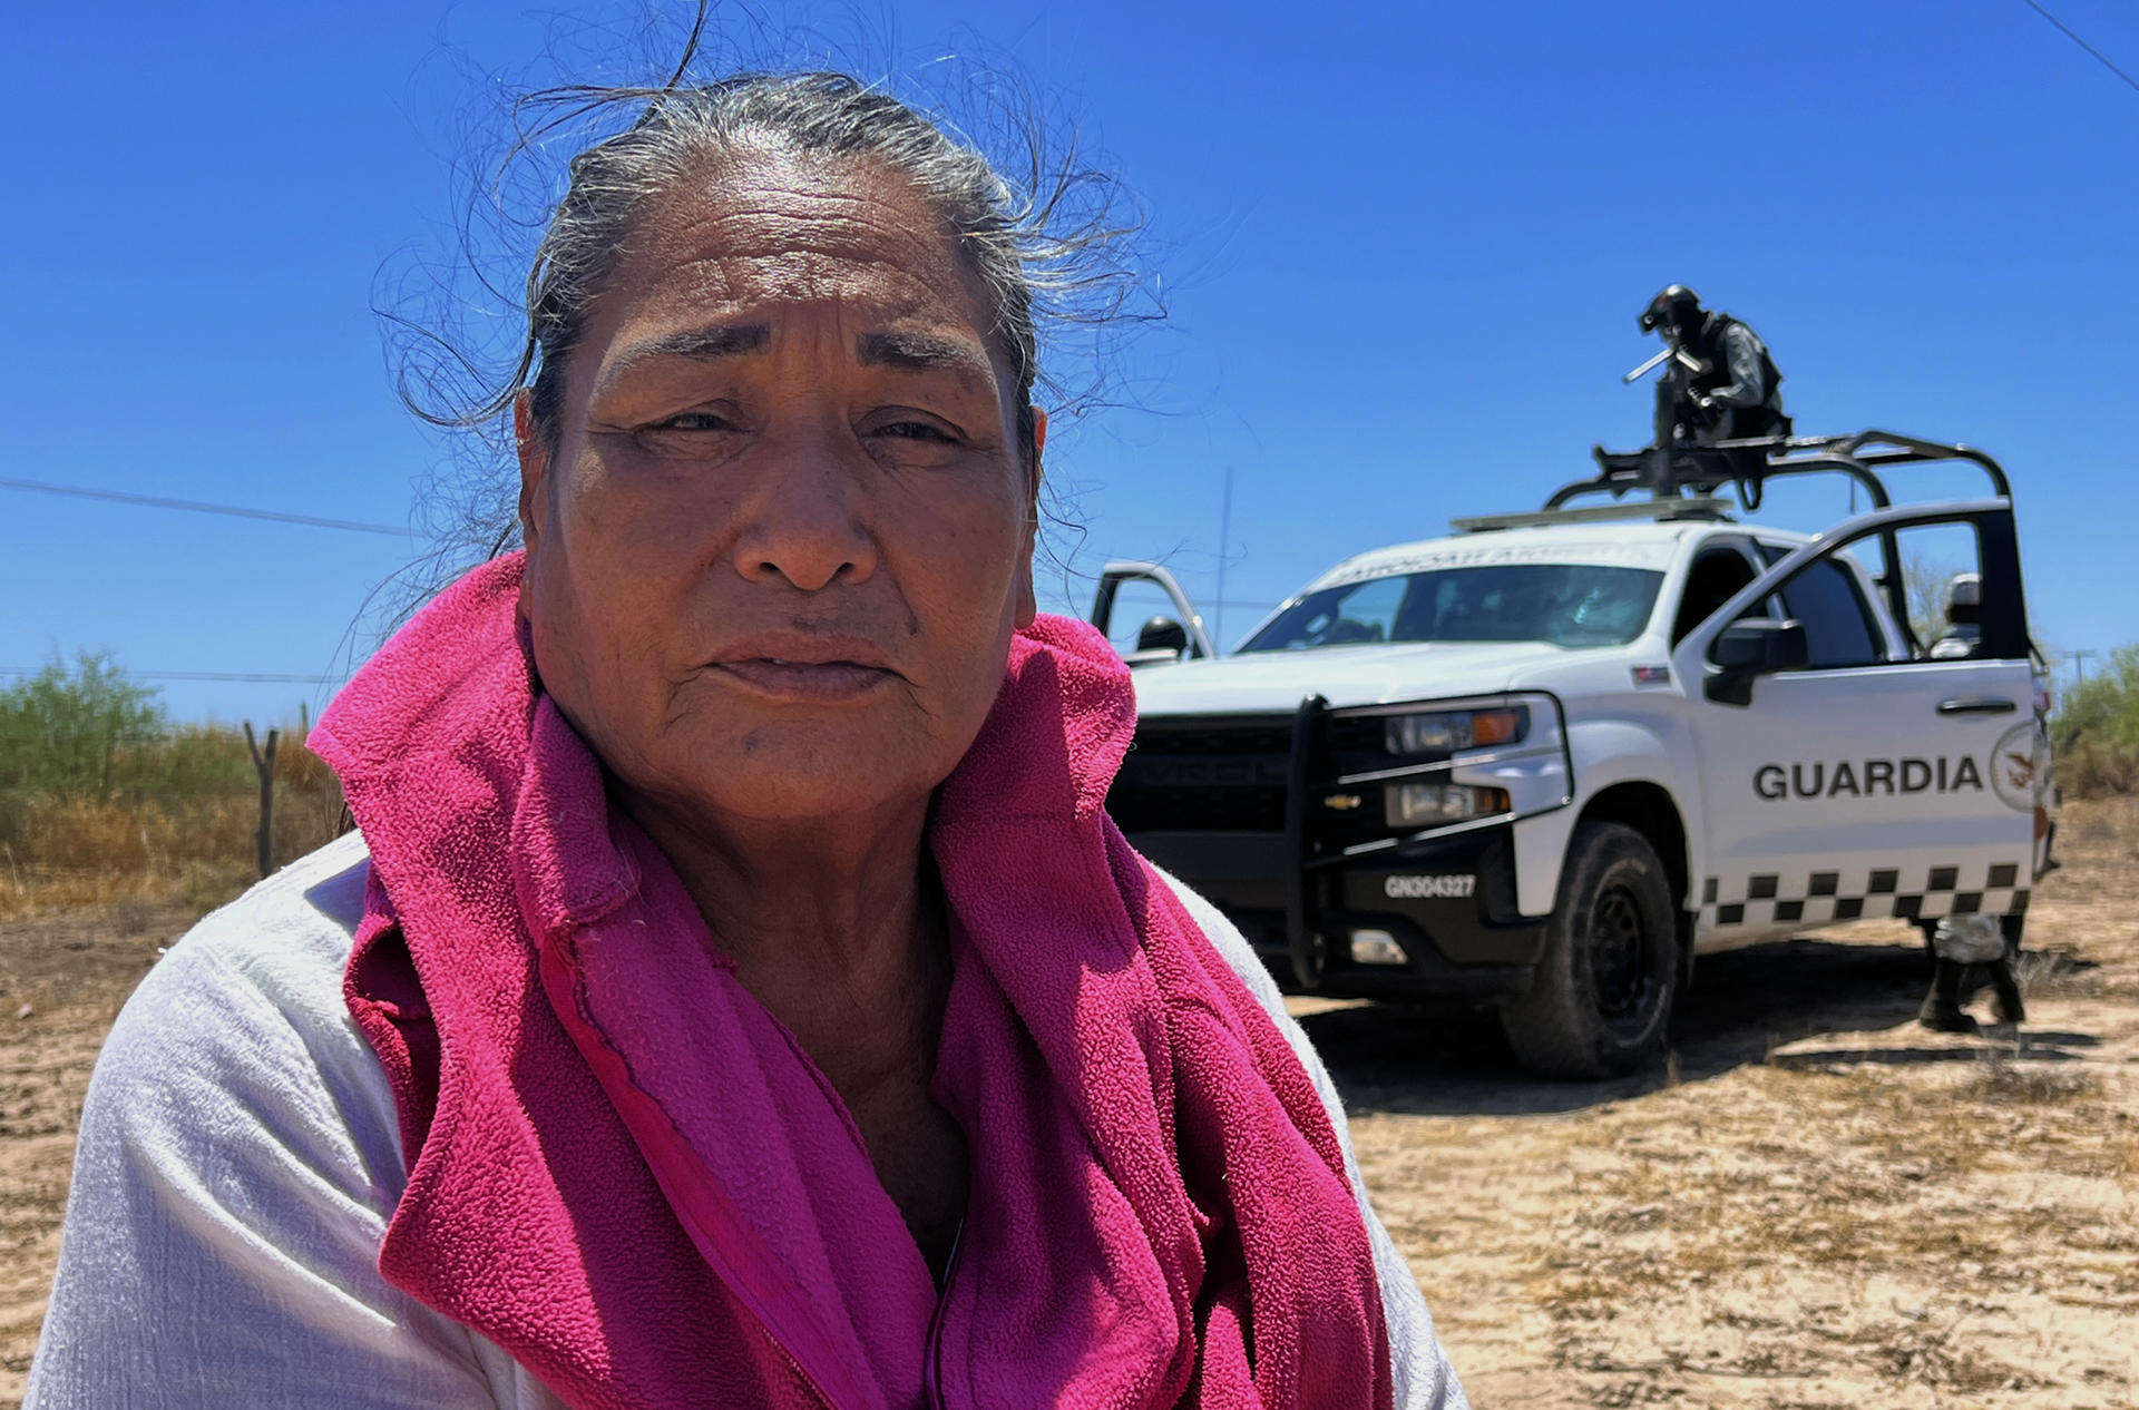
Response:
[[[1033,479],[990,304],[873,165],[753,152],[633,229],[520,409],[543,687],[684,817],[862,819],[965,755],[1033,618]]]

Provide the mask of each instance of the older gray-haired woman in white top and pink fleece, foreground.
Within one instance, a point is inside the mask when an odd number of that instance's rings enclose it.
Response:
[[[830,75],[573,160],[526,550],[321,719],[359,837],[120,1016],[32,1406],[1463,1404],[1268,978],[1102,811],[1012,201]]]

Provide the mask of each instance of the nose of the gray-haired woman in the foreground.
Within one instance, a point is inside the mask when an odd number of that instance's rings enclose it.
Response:
[[[851,441],[845,428],[824,428],[766,447],[768,464],[736,537],[736,571],[804,593],[868,580],[877,539],[862,479],[877,466]]]

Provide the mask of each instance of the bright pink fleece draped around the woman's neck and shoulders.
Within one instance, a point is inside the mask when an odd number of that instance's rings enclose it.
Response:
[[[372,856],[349,1008],[409,1185],[379,1267],[567,1404],[1388,1406],[1373,1256],[1283,1036],[1102,811],[1127,672],[1042,618],[930,847],[941,1297],[809,1055],[530,678],[520,558],[321,717]]]

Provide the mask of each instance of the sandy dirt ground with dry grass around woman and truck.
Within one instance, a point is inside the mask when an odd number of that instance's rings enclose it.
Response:
[[[1294,1001],[1472,1401],[2139,1406],[2139,800],[2071,804],[2060,852],[2017,1031],[1919,1029],[1902,926],[1703,959],[1671,1066],[1609,1085],[1517,1076],[1491,1023]],[[96,1046],[184,924],[0,924],[0,1408]]]

